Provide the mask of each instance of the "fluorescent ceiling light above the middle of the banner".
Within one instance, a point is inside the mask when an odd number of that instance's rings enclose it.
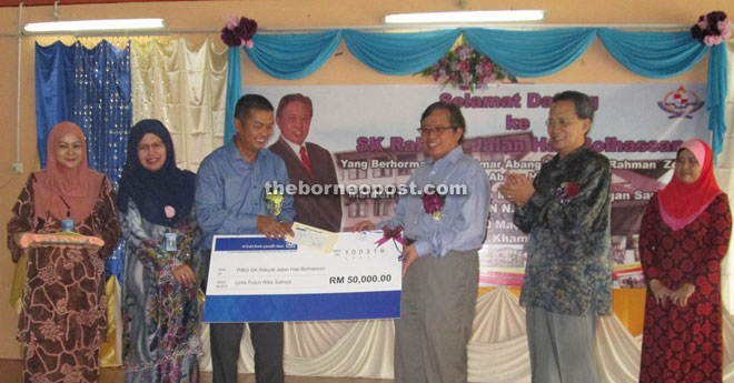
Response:
[[[542,10],[460,11],[388,14],[385,17],[385,23],[499,22],[537,21],[543,19],[545,19],[545,11]]]

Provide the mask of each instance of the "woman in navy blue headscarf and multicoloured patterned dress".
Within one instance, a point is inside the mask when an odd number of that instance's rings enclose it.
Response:
[[[126,240],[122,361],[127,382],[198,381],[201,231],[196,175],[176,167],[158,120],[130,132],[117,206]]]

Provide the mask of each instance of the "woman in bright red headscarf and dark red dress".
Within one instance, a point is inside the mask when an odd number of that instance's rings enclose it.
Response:
[[[639,228],[648,282],[639,382],[722,382],[720,263],[731,231],[711,148],[688,140]]]

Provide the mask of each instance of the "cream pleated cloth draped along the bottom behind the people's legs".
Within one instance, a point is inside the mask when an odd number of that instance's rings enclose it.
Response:
[[[642,310],[642,309],[641,309]],[[734,383],[734,319],[723,315],[724,382]],[[393,379],[391,320],[286,323],[287,375]],[[209,330],[200,369],[211,371]],[[636,383],[642,335],[633,336],[615,315],[602,316],[596,331],[597,365],[604,383]],[[529,383],[525,309],[498,288],[477,299],[474,333],[467,346],[469,382]],[[252,372],[247,329],[240,344],[240,373]]]

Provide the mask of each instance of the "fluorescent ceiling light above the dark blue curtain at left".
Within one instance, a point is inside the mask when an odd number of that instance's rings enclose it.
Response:
[[[166,28],[163,19],[117,19],[31,22],[27,23],[23,30],[26,32],[79,32],[163,28]]]

